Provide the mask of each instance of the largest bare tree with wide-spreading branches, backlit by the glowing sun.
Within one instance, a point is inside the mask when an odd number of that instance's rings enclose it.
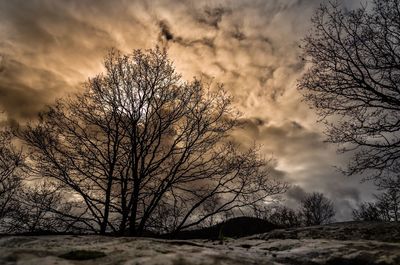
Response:
[[[16,134],[88,229],[179,231],[286,190],[256,148],[230,141],[238,114],[222,86],[182,81],[160,49],[112,50],[105,69]]]

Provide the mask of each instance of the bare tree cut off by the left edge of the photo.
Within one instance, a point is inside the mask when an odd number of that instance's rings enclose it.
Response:
[[[9,131],[0,132],[0,222],[7,222],[16,209],[15,197],[21,185],[24,159],[11,140]]]

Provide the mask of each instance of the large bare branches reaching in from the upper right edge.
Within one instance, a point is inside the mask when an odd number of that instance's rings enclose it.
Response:
[[[400,1],[343,11],[322,5],[304,39],[299,82],[325,119],[328,140],[354,156],[345,172],[378,178],[400,159]]]

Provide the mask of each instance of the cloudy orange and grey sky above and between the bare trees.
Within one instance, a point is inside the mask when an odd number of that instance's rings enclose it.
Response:
[[[339,221],[371,200],[371,183],[342,176],[348,156],[324,142],[296,82],[306,69],[301,39],[323,0],[0,0],[0,109],[7,122],[34,119],[46,104],[100,73],[107,50],[168,47],[177,72],[223,83],[242,112],[243,145],[261,145],[292,188],[332,199]],[[365,1],[364,1],[365,2]],[[352,9],[359,0],[344,1]]]

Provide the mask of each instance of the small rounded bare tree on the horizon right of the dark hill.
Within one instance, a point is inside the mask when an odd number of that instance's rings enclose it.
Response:
[[[301,201],[300,212],[306,226],[330,223],[335,216],[332,201],[318,192],[305,196]]]

